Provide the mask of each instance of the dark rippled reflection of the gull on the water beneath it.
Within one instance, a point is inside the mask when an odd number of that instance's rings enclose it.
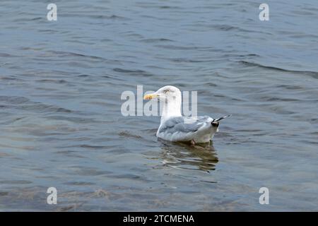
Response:
[[[163,165],[178,169],[214,170],[218,157],[213,145],[190,146],[163,141]]]

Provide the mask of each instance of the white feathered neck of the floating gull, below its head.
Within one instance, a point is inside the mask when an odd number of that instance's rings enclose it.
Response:
[[[166,100],[163,102],[163,112],[161,113],[160,124],[163,121],[169,119],[170,117],[180,117],[181,114],[181,97],[176,97],[175,99]]]

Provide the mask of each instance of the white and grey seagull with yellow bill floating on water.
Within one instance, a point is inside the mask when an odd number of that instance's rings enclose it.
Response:
[[[158,99],[163,102],[160,126],[156,136],[166,141],[208,143],[218,131],[219,121],[231,114],[218,119],[208,116],[184,117],[181,114],[181,91],[172,85],[166,85],[155,93],[145,95],[143,100]]]

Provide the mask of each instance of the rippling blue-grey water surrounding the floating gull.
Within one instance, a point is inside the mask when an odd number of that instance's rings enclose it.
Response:
[[[269,21],[252,0],[51,2],[0,2],[0,210],[318,210],[317,0],[266,1]],[[168,84],[233,114],[210,147],[122,116],[122,92]]]

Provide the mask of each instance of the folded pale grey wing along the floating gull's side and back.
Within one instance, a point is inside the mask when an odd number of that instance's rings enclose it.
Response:
[[[163,126],[160,127],[159,133],[194,133],[204,126],[209,117],[175,117],[165,121]],[[187,123],[184,122],[184,119],[187,120]],[[191,119],[191,121],[189,120]],[[189,122],[190,121],[190,122]]]

